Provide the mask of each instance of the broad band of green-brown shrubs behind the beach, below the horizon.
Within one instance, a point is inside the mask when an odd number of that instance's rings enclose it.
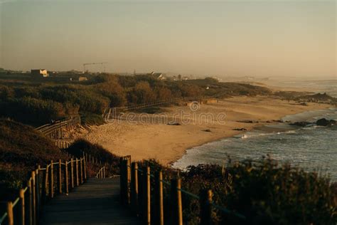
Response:
[[[68,81],[64,79],[68,76]],[[268,95],[270,90],[241,83],[219,83],[213,78],[199,80],[158,80],[152,75],[75,75],[29,79],[29,75],[0,75],[0,117],[29,125],[43,125],[68,115],[84,115],[86,122],[100,124],[97,116],[109,107],[150,103],[171,98],[231,95]],[[11,78],[11,79],[10,79]],[[61,79],[62,78],[62,79]],[[70,78],[72,78],[70,80]]]

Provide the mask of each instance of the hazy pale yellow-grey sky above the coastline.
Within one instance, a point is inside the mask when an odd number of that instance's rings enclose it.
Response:
[[[336,76],[336,1],[3,1],[0,7],[3,68],[82,70],[82,63],[108,62],[112,72]]]

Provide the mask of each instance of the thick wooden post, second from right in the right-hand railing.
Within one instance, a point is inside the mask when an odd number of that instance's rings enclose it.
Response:
[[[181,204],[181,179],[171,179],[171,224],[183,225],[183,206]]]

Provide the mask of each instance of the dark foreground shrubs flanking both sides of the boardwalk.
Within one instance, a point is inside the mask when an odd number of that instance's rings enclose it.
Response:
[[[107,163],[107,175],[119,173],[119,157],[100,145],[77,140],[65,152],[60,151],[33,127],[11,120],[0,120],[0,174],[1,201],[13,200],[23,187],[36,164],[50,160],[67,159],[70,153],[81,157],[83,152]],[[269,157],[257,162],[245,160],[225,166],[200,164],[187,171],[163,167],[154,159],[139,162],[139,167],[149,165],[151,173],[161,170],[166,181],[180,177],[182,188],[198,194],[203,189],[213,191],[215,204],[243,214],[250,224],[336,224],[337,184],[318,172],[304,172],[289,164],[277,164]],[[95,176],[99,168],[88,168]],[[154,182],[151,183],[154,192]],[[164,186],[164,208],[169,207],[169,187]],[[186,224],[198,224],[197,199],[183,194],[183,220]],[[228,216],[213,209],[215,224],[245,224],[235,216]],[[169,219],[169,210],[165,211]]]

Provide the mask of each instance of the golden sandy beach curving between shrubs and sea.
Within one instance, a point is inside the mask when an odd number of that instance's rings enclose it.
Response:
[[[92,127],[82,138],[102,145],[115,155],[132,155],[134,160],[153,158],[169,165],[188,148],[244,132],[234,129],[251,130],[285,115],[328,107],[331,105],[300,105],[264,96],[227,98],[218,103],[164,108],[162,115],[166,120],[163,121],[152,121],[154,115],[141,115],[145,118],[141,121],[137,115],[113,120]],[[173,117],[180,125],[167,125]]]

